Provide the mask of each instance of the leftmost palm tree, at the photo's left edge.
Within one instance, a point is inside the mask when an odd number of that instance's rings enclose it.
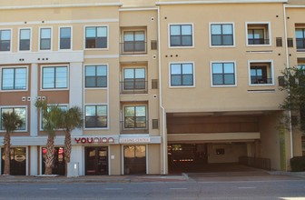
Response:
[[[21,125],[24,124],[19,115],[16,115],[15,112],[7,112],[1,115],[2,125],[5,128],[5,169],[4,175],[10,175],[11,171],[11,134]]]

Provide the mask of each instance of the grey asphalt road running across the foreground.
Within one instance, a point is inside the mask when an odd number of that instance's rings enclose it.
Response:
[[[251,180],[144,183],[7,183],[7,199],[305,199],[305,180]]]

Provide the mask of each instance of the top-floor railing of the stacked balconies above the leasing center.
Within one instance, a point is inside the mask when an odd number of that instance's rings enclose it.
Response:
[[[144,41],[129,41],[120,43],[121,55],[145,55],[147,43]]]

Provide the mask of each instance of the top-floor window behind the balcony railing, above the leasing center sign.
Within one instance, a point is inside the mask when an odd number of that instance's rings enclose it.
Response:
[[[125,31],[123,33],[123,52],[146,52],[144,31]]]

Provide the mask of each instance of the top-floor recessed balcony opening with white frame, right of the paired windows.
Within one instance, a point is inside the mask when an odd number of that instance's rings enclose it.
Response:
[[[247,24],[248,45],[270,45],[270,24]]]

